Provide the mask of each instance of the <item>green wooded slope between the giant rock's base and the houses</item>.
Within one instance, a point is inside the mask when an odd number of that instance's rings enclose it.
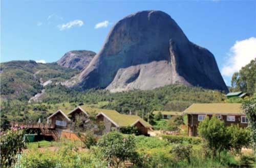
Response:
[[[147,117],[153,110],[183,111],[193,103],[223,102],[225,95],[219,91],[168,85],[154,90],[133,90],[111,93],[107,90],[77,91],[61,85],[46,86],[40,104],[7,101],[2,103],[2,118],[11,121],[45,121],[59,108],[74,108],[79,104],[114,109],[121,113],[138,113]]]

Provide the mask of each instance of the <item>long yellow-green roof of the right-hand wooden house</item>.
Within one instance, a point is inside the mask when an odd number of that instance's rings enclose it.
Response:
[[[240,103],[195,103],[184,113],[212,113],[212,114],[244,114]]]

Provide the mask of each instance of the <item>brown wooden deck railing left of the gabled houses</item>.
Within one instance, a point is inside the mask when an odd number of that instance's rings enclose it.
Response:
[[[11,127],[20,127],[23,126],[24,128],[44,128],[44,129],[54,129],[54,124],[43,124],[43,123],[20,123],[20,122],[10,122]]]

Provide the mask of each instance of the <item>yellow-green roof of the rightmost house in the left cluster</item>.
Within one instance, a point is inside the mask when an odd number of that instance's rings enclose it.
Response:
[[[144,121],[141,117],[137,115],[127,115],[127,114],[120,114],[117,111],[104,111],[102,112],[106,116],[108,116],[115,124],[119,127],[128,127],[135,124],[138,120],[147,128],[152,127],[149,123]]]

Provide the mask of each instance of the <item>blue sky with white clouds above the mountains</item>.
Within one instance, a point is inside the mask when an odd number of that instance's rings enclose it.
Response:
[[[54,62],[71,50],[98,53],[118,20],[142,10],[169,14],[190,41],[214,54],[227,85],[256,58],[256,0],[2,0],[1,62]]]

